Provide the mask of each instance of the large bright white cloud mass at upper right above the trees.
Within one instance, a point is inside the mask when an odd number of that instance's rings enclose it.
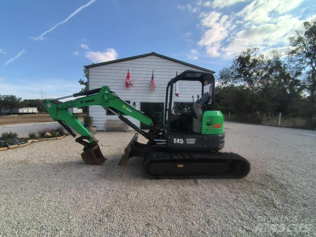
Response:
[[[214,0],[212,7],[224,8],[235,3],[248,0]],[[201,21],[197,25],[202,30],[198,41],[204,46],[211,57],[231,57],[238,50],[258,47],[260,52],[269,52],[279,48],[282,52],[289,44],[289,36],[296,29],[302,29],[301,24],[311,20],[310,16],[293,16],[299,12],[298,6],[303,0],[254,0],[237,13],[224,15],[220,11],[202,12]],[[198,6],[204,6],[199,1]],[[314,15],[315,16],[315,15]],[[238,27],[237,27],[238,25]]]

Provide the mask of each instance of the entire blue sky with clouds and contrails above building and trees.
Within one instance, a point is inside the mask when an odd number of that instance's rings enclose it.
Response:
[[[157,52],[210,70],[267,54],[316,16],[312,0],[2,1],[0,94],[76,93],[82,66]]]

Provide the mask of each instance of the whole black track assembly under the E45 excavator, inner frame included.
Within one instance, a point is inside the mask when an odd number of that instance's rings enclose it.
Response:
[[[155,152],[145,156],[142,169],[149,179],[239,179],[250,163],[228,152]]]

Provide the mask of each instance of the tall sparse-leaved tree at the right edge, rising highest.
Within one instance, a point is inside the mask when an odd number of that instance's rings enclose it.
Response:
[[[295,30],[289,37],[291,49],[288,50],[289,61],[307,73],[305,86],[309,100],[316,100],[316,18],[303,23],[304,33]]]

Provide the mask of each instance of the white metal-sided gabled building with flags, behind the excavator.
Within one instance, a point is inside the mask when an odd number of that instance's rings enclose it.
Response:
[[[185,70],[200,70],[214,73],[212,70],[155,52],[84,67],[88,69],[89,90],[105,85],[109,86],[111,91],[118,94],[122,100],[125,100],[136,109],[155,114],[158,125],[159,123],[162,125],[165,116],[164,104],[167,83],[176,76],[177,70],[178,75]],[[130,71],[133,83],[133,86],[129,88],[125,86],[127,69]],[[155,91],[150,87],[153,69],[156,82]],[[206,87],[204,88],[205,92],[209,91],[210,86]],[[197,100],[197,95],[201,96],[201,83],[180,81],[179,97],[175,96],[173,92],[173,104],[176,102],[192,103],[192,95],[194,95],[194,101]],[[116,115],[104,110],[101,106],[89,106],[88,113],[94,119],[94,126],[97,126],[97,129],[100,131],[104,130],[106,119],[117,119]],[[147,129],[146,125],[140,124],[138,120],[130,116],[126,116],[126,118],[141,129]]]

